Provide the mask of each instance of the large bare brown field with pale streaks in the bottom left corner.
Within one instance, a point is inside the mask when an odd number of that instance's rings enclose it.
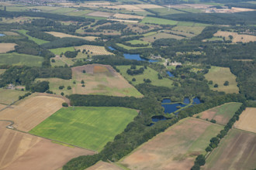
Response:
[[[0,121],[0,169],[61,168],[71,158],[93,155],[93,151],[57,145],[50,140],[5,128],[9,122]],[[46,164],[47,162],[47,164]]]

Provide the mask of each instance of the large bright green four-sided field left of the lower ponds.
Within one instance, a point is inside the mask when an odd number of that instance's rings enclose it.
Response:
[[[61,108],[29,133],[101,151],[137,116],[124,107]]]

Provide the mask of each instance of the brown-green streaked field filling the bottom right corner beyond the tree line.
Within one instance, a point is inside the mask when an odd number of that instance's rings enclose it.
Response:
[[[256,135],[231,129],[206,159],[206,165],[202,169],[254,169],[255,160]]]

